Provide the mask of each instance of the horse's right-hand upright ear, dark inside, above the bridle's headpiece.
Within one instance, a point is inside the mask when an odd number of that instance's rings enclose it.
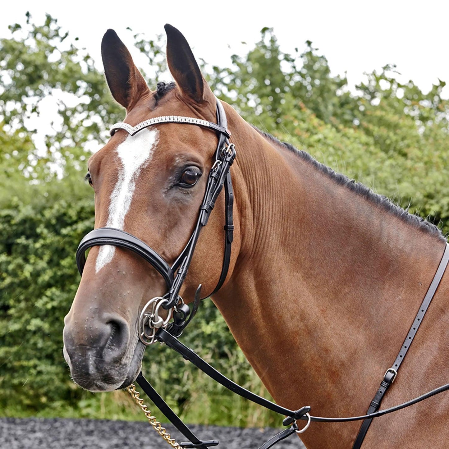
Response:
[[[174,26],[164,26],[167,33],[167,63],[178,87],[187,96],[200,102],[203,100],[204,82],[185,37]]]

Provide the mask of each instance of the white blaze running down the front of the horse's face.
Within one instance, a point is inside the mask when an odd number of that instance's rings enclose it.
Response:
[[[158,143],[156,129],[142,129],[135,136],[128,136],[116,149],[121,167],[119,179],[110,196],[109,215],[106,228],[123,230],[125,216],[131,206],[132,195],[141,168],[150,162]],[[98,273],[114,257],[115,247],[104,245],[98,251],[95,272]]]

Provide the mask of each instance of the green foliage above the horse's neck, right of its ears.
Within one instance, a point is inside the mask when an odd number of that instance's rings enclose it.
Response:
[[[326,57],[310,41],[282,53],[273,30],[229,68],[212,67],[217,96],[282,141],[372,187],[449,233],[449,102],[445,82],[424,94],[400,84],[394,66],[366,74],[358,95],[347,79],[330,75]]]

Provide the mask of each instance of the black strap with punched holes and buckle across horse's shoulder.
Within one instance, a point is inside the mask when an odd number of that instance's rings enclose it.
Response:
[[[404,343],[402,343],[401,346],[401,350],[399,351],[399,354],[397,355],[396,360],[394,361],[392,367],[389,368],[385,373],[382,382],[380,383],[380,387],[376,392],[374,399],[371,401],[370,407],[368,408],[366,414],[371,414],[379,410],[380,404],[383,400],[383,396],[385,396],[385,393],[387,392],[388,388],[390,388],[390,386],[396,379],[397,371],[399,370],[401,363],[404,361],[405,355],[407,354],[407,351],[409,350],[410,345],[412,344],[412,341],[415,338],[416,333],[418,332],[419,326],[421,326],[423,317],[427,312],[427,309],[429,308],[430,302],[435,295],[436,289],[440,285],[441,278],[445,273],[445,269],[447,267],[448,262],[449,262],[449,244],[446,243],[445,251],[441,258],[440,265],[438,266],[438,269],[436,270],[435,276],[432,279],[429,289],[427,290],[427,293],[424,296],[423,302],[418,309],[418,313],[413,321],[413,324],[410,326],[409,333],[405,337]],[[365,419],[365,421],[362,423],[359,433],[357,434],[357,438],[354,442],[354,445],[352,446],[352,449],[361,448],[363,440],[365,439],[366,436],[366,432],[370,428],[372,421],[373,418],[368,418]]]

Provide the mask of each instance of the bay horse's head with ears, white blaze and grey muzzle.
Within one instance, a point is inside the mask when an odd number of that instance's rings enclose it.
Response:
[[[95,192],[95,228],[132,234],[172,265],[194,232],[217,133],[170,121],[136,133],[132,128],[173,116],[213,124],[217,100],[184,36],[170,25],[165,29],[168,67],[176,84],[160,83],[155,91],[148,88],[116,33],[109,30],[104,35],[106,80],[114,99],[126,108],[126,118],[89,159],[87,177]],[[225,207],[222,197],[217,209]],[[223,215],[212,214],[198,240],[180,291],[186,303],[194,296],[200,273],[204,292],[210,293],[220,278],[223,226]],[[238,247],[238,233],[236,237]],[[234,263],[235,256],[229,273]],[[134,252],[115,245],[93,246],[65,318],[64,357],[74,381],[94,392],[132,383],[145,349],[139,317],[150,298],[166,291],[160,273]]]

